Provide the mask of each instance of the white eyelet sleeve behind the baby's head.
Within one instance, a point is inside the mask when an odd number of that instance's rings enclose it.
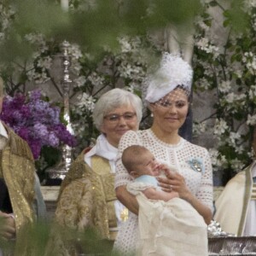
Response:
[[[116,174],[114,179],[114,188],[126,185],[131,181],[129,173],[122,164],[121,156],[125,148],[131,145],[142,145],[136,131],[127,131],[119,141],[119,153],[116,161]]]

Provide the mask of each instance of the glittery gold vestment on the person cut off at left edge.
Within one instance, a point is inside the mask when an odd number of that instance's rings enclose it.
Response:
[[[15,255],[32,255],[29,241],[22,232],[26,224],[32,224],[34,213],[32,201],[34,199],[35,167],[31,149],[27,143],[15,134],[8,126],[4,125],[8,140],[1,152],[0,177],[9,190],[9,198],[15,215],[16,242]]]

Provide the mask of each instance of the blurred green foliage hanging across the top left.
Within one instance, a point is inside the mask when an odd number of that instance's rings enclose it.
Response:
[[[14,61],[16,57],[27,59],[32,46],[24,36],[42,33],[48,40],[68,40],[81,45],[94,54],[102,52],[102,45],[116,49],[116,38],[121,35],[145,35],[148,29],[161,28],[169,23],[183,24],[200,12],[199,0],[191,0],[189,8],[185,0],[97,0],[96,7],[83,12],[63,12],[56,1],[10,1],[15,9],[15,19],[9,28],[9,36],[0,45],[1,61]],[[82,5],[79,1],[76,6]],[[84,3],[86,4],[86,3]],[[40,17],[40,18],[38,18]],[[7,47],[8,46],[8,47]]]

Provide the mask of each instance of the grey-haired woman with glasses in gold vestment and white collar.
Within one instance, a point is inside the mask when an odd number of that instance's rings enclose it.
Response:
[[[127,90],[109,90],[96,102],[93,119],[102,134],[93,148],[85,148],[73,162],[61,183],[55,219],[78,230],[95,227],[113,241],[128,217],[113,186],[117,147],[125,132],[137,131],[142,101]]]

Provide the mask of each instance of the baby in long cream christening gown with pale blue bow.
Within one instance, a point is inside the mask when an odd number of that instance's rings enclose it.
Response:
[[[161,169],[171,168],[139,145],[125,148],[122,162],[133,178],[126,188],[139,204],[136,255],[208,255],[204,219],[176,191],[165,192],[158,186]]]

